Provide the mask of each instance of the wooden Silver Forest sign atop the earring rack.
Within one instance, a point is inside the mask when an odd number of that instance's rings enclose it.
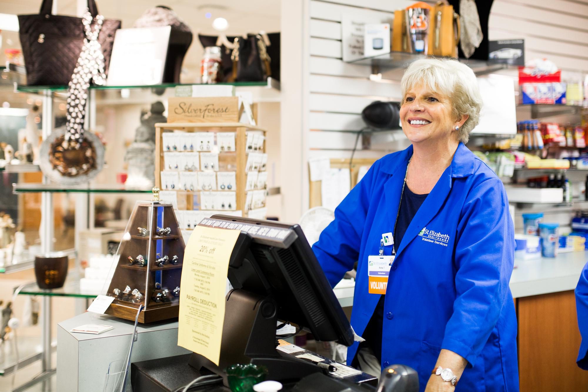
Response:
[[[239,122],[238,97],[168,98],[168,122]]]

